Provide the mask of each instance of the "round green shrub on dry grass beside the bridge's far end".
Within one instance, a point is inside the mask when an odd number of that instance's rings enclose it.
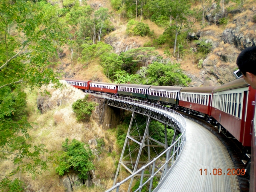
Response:
[[[87,100],[88,95],[86,95],[84,99],[78,99],[73,103],[72,109],[76,113],[77,120],[88,119],[97,105],[95,102],[88,102]]]

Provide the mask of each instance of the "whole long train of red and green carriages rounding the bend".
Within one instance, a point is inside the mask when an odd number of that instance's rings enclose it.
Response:
[[[64,80],[84,92],[144,99],[200,116],[217,126],[219,132],[238,140],[244,147],[251,146],[256,90],[242,78],[216,87],[169,87]]]

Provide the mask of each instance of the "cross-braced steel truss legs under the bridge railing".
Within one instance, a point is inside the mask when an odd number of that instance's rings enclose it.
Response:
[[[134,108],[132,108],[134,109]],[[149,124],[151,122],[151,117],[150,114],[148,114],[146,122],[139,123],[136,120],[135,117],[135,112],[133,111],[132,113],[132,117],[131,117],[131,122],[128,128],[128,132],[125,138],[125,143],[122,149],[122,154],[119,160],[119,164],[116,170],[116,175],[114,178],[114,183],[113,185],[116,184],[116,179],[119,175],[119,171],[121,169],[121,166],[126,169],[131,175],[134,174],[134,172],[137,171],[138,165],[140,164],[140,167],[146,165],[147,163],[149,163],[152,159],[154,159],[154,157],[157,157],[158,154],[160,154],[161,152],[163,152],[165,149],[168,148],[168,138],[167,138],[167,128],[165,125],[165,143],[161,143],[160,141],[157,141],[155,139],[153,139],[151,136],[153,134],[159,134],[156,133],[157,130],[155,129],[154,131],[149,131],[148,127]],[[143,127],[143,125],[146,125],[145,127]],[[176,126],[175,126],[176,127]],[[140,135],[140,131],[139,129],[143,128],[143,135]],[[172,142],[175,141],[175,138],[177,136],[177,129],[175,129],[175,134],[174,137],[172,138]],[[136,148],[134,148],[133,150],[130,149],[130,145],[134,144],[136,145]],[[163,148],[163,150],[161,150],[160,152],[157,153],[158,150],[156,150],[155,148]],[[142,150],[143,148],[146,148],[144,150],[144,154],[142,154]],[[128,154],[125,154],[125,151],[129,151]],[[155,156],[153,157],[151,154],[151,151],[153,151],[153,153],[155,154]],[[147,153],[147,157],[145,156],[145,152]],[[169,154],[166,154],[166,157]],[[136,161],[133,157],[137,157]],[[148,159],[148,161],[145,161],[145,159]],[[144,161],[142,161],[141,159],[143,159]],[[165,161],[161,161],[159,160],[157,162],[157,166],[155,166],[154,169],[159,169],[159,167],[161,167],[163,164],[165,163]],[[140,168],[139,167],[139,168]],[[151,176],[151,169],[152,167],[149,166],[147,171],[149,172],[149,174],[144,174],[145,177],[150,177]],[[165,168],[166,170],[168,169],[168,166],[166,166]],[[163,173],[166,173],[166,171],[162,171],[160,170],[159,174],[155,175],[156,177],[158,177],[158,181],[160,181],[160,179],[163,176]],[[141,176],[141,174],[137,174],[137,176]],[[131,178],[130,180],[130,184],[129,184],[129,188],[128,191],[130,191],[132,183],[133,183],[133,179],[134,177]]]

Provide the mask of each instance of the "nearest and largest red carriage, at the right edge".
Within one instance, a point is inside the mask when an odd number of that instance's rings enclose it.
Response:
[[[251,145],[255,94],[244,79],[213,90],[212,117],[244,146]]]

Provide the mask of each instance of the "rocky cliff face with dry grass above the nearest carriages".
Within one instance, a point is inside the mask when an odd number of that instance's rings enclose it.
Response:
[[[213,4],[207,10],[206,20],[209,25],[220,28],[218,24],[222,13],[218,12],[216,7],[216,4]],[[219,30],[211,30],[212,27],[206,27],[196,33],[197,39],[212,43],[212,50],[204,59],[199,76],[192,77],[190,86],[218,86],[235,80],[233,72],[237,67],[237,56],[242,49],[256,46],[256,23],[252,22],[256,9],[251,8],[245,12],[235,9],[224,14],[227,18],[233,17],[233,20],[222,33]]]

